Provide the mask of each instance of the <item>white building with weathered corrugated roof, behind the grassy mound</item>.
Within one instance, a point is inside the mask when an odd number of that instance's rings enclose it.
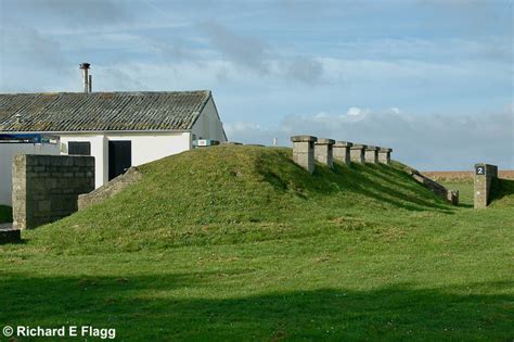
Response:
[[[195,140],[227,141],[208,90],[0,94],[1,134],[52,135],[62,154],[94,156],[97,188],[132,165],[191,150]]]

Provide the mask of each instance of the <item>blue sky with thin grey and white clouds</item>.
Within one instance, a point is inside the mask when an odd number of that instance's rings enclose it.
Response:
[[[514,169],[511,0],[0,0],[0,92],[209,89],[230,140]]]

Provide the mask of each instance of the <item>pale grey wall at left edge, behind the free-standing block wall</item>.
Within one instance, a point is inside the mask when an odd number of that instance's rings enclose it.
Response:
[[[16,154],[59,155],[59,143],[0,143],[0,204],[12,205],[12,164]]]

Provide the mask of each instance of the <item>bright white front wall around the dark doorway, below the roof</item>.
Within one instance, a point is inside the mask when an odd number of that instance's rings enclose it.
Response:
[[[95,187],[108,181],[108,141],[131,141],[132,166],[150,163],[165,156],[189,151],[192,148],[189,131],[177,132],[105,132],[105,134],[60,134],[62,152],[67,154],[70,141],[90,142],[95,163]]]

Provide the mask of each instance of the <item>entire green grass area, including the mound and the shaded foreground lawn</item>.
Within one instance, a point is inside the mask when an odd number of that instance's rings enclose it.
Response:
[[[92,325],[125,341],[514,338],[512,182],[475,211],[471,182],[451,183],[453,207],[399,163],[310,176],[290,156],[182,153],[24,231],[0,246],[0,326]]]

